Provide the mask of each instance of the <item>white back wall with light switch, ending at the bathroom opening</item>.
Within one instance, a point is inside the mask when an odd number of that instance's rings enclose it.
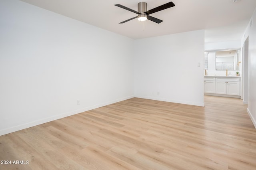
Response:
[[[204,30],[135,40],[135,97],[203,106],[203,82]]]

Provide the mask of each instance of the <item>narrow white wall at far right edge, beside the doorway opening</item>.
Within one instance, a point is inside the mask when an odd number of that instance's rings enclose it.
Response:
[[[242,45],[249,37],[248,51],[248,114],[256,127],[256,10],[251,18],[252,23],[248,27],[242,38]]]

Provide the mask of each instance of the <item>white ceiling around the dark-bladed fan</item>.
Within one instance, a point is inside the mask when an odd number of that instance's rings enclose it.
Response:
[[[256,0],[144,0],[148,10],[174,2],[176,6],[151,14],[163,20],[156,24],[114,4],[137,11],[140,0],[22,0],[40,8],[116,32],[133,39],[205,29],[205,42],[240,40],[256,8]]]

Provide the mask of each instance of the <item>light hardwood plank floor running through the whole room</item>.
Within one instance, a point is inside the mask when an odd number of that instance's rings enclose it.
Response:
[[[133,98],[0,136],[0,160],[28,160],[0,169],[255,170],[246,108],[214,96],[205,107]]]

